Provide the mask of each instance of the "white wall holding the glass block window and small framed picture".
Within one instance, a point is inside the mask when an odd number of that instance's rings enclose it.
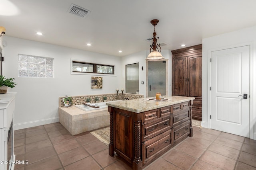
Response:
[[[14,129],[58,122],[58,98],[115,93],[121,84],[121,58],[4,36],[3,75],[18,83],[8,92],[17,92]],[[18,77],[18,54],[54,58],[54,78]],[[115,65],[116,76],[70,74],[70,58]],[[91,77],[102,76],[103,88],[91,89]]]

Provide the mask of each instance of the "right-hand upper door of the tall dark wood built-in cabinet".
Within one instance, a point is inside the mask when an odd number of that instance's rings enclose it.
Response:
[[[202,57],[188,58],[188,96],[202,96]]]

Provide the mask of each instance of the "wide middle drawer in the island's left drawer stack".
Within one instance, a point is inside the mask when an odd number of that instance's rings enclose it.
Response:
[[[171,115],[164,117],[164,119],[159,119],[158,121],[142,124],[142,141],[151,139],[160,133],[167,131],[172,128],[172,123],[170,121]]]

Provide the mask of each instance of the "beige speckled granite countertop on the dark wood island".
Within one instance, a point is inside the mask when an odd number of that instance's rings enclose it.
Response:
[[[153,98],[153,97],[150,97]],[[116,107],[119,109],[124,109],[127,111],[132,111],[135,113],[140,113],[143,111],[148,111],[152,109],[158,109],[160,107],[170,106],[182,102],[187,102],[194,100],[194,97],[183,97],[183,96],[162,96],[162,98],[169,99],[168,101],[148,101],[146,99],[133,99],[133,100],[122,100],[119,102],[106,103],[106,105],[111,107]]]

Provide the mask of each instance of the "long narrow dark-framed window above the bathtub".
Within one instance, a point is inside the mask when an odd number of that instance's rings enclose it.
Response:
[[[99,74],[114,74],[114,66],[96,63],[72,61],[72,72],[87,72]]]

